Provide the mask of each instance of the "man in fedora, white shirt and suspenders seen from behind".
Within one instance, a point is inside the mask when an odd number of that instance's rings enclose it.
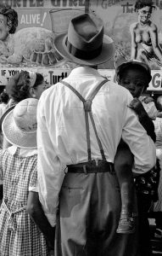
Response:
[[[76,16],[54,45],[78,64],[42,93],[37,111],[39,197],[56,227],[55,256],[135,256],[136,200],[135,232],[116,233],[121,200],[115,152],[122,137],[134,154],[135,172],[148,172],[155,165],[154,143],[127,107],[130,92],[98,73],[115,52],[102,20]]]

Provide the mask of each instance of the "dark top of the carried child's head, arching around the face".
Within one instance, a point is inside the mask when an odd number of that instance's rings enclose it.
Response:
[[[126,65],[126,67],[120,68],[120,70],[117,72],[117,77],[116,77],[116,80],[118,81],[118,83],[120,84],[120,80],[124,77],[125,73],[128,70],[136,70],[136,71],[143,73],[146,76],[146,79],[145,79],[146,83],[144,86],[144,90],[147,90],[149,82],[151,81],[152,77],[151,77],[151,75],[149,75],[146,68],[142,67],[141,65],[135,64],[135,63],[133,63],[133,65]]]

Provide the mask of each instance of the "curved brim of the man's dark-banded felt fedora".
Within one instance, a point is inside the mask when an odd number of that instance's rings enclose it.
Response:
[[[65,45],[65,40],[68,37],[67,33],[61,34],[54,38],[54,46],[64,58],[68,59],[71,62],[81,64],[84,66],[97,66],[106,61],[109,61],[115,54],[115,43],[107,35],[103,35],[103,47],[100,55],[92,60],[81,60],[76,58],[74,55],[71,55]]]

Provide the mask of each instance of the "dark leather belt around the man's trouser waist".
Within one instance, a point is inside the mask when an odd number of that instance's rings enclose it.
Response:
[[[67,165],[67,172],[72,173],[98,173],[98,172],[115,172],[113,163],[107,162],[106,160],[98,160],[98,166],[96,161],[80,163],[76,165]]]

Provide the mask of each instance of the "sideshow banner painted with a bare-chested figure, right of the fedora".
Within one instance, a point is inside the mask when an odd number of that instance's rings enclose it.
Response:
[[[89,12],[103,20],[115,41],[115,55],[100,68],[138,60],[162,68],[162,0],[90,0]]]

